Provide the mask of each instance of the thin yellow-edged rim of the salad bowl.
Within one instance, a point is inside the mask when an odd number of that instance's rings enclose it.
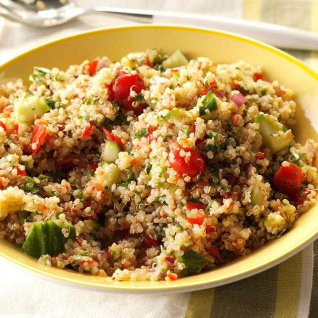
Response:
[[[137,25],[122,25],[122,26],[114,26],[114,27],[106,27],[106,28],[97,28],[93,30],[83,31],[79,32],[73,35],[65,36],[53,41],[46,42],[42,45],[39,45],[35,48],[32,48],[30,50],[27,50],[12,59],[2,63],[0,65],[0,70],[14,64],[19,59],[26,57],[36,51],[39,51],[41,49],[44,49],[46,47],[50,47],[57,43],[67,42],[70,39],[79,38],[85,35],[92,35],[92,34],[100,34],[100,33],[108,33],[113,31],[123,31],[123,30],[138,30],[138,29],[173,29],[173,30],[184,30],[184,31],[194,31],[199,33],[209,33],[209,34],[215,34],[220,35],[227,38],[232,38],[235,40],[239,40],[242,42],[250,43],[252,45],[255,45],[257,47],[260,47],[262,49],[265,49],[267,51],[270,51],[276,55],[279,55],[283,57],[284,59],[292,62],[293,64],[297,65],[299,68],[301,68],[303,71],[308,73],[310,76],[312,76],[314,79],[318,80],[318,74],[313,71],[311,68],[306,66],[304,63],[296,59],[295,57],[291,56],[290,54],[275,48],[271,45],[265,44],[263,42],[241,36],[239,34],[226,32],[222,30],[217,29],[209,29],[209,28],[202,28],[202,27],[194,27],[194,26],[186,26],[186,25],[169,25],[169,24],[137,24]],[[312,241],[318,238],[318,227],[316,230],[314,230],[312,233],[308,234],[304,239],[299,241],[296,245],[293,247],[285,250],[281,254],[273,257],[269,257],[267,260],[262,261],[261,263],[258,263],[254,266],[251,266],[245,270],[237,271],[235,273],[229,273],[227,275],[223,275],[214,279],[201,279],[194,282],[189,283],[183,283],[182,279],[178,280],[179,283],[173,284],[173,285],[161,285],[161,286],[120,286],[120,285],[103,285],[98,284],[94,282],[83,282],[78,279],[72,279],[67,277],[61,277],[58,274],[55,273],[49,273],[47,271],[42,270],[41,268],[36,268],[31,265],[25,264],[17,259],[12,258],[9,254],[6,254],[5,252],[0,250],[0,255],[7,260],[20,265],[26,269],[30,269],[33,274],[43,274],[41,275],[43,278],[47,279],[54,279],[56,282],[57,280],[60,283],[64,284],[72,284],[72,286],[81,287],[88,290],[99,290],[99,291],[108,291],[108,292],[119,292],[119,293],[178,293],[178,292],[185,292],[185,291],[194,291],[194,290],[202,290],[202,289],[208,289],[212,287],[217,287],[225,284],[229,284],[235,281],[238,281],[243,278],[250,277],[252,275],[255,275],[257,273],[260,273],[262,271],[265,271],[284,260],[292,257],[305,247],[307,247]],[[75,284],[75,285],[74,285]]]

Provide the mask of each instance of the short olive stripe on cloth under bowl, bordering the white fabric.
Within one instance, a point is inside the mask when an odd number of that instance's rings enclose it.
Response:
[[[185,318],[209,318],[214,300],[214,288],[191,293]]]

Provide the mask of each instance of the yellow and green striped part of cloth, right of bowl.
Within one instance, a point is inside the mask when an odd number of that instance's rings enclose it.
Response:
[[[318,1],[243,0],[242,17],[318,32]],[[318,52],[288,50],[318,72]],[[314,257],[315,255],[315,257]],[[317,318],[318,241],[237,283],[192,292],[186,318]]]

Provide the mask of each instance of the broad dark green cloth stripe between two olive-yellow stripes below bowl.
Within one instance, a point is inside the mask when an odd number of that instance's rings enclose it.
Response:
[[[275,312],[278,267],[216,288],[211,318],[271,318]]]

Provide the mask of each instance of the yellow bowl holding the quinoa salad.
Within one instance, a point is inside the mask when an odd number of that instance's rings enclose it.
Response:
[[[237,35],[193,27],[137,25],[80,33],[54,41],[0,66],[0,83],[22,78],[27,82],[33,66],[66,69],[85,59],[106,55],[118,60],[130,52],[147,48],[172,53],[180,48],[188,58],[206,56],[217,63],[238,60],[261,65],[268,80],[279,80],[297,95],[297,141],[318,141],[318,75],[290,55],[268,45]],[[317,156],[318,157],[318,156]],[[318,166],[316,159],[315,166]],[[112,282],[104,277],[79,274],[40,265],[7,241],[0,241],[0,254],[34,272],[86,288],[114,292],[173,293],[216,287],[268,269],[291,257],[318,236],[318,205],[305,213],[286,235],[215,270],[176,281]]]

